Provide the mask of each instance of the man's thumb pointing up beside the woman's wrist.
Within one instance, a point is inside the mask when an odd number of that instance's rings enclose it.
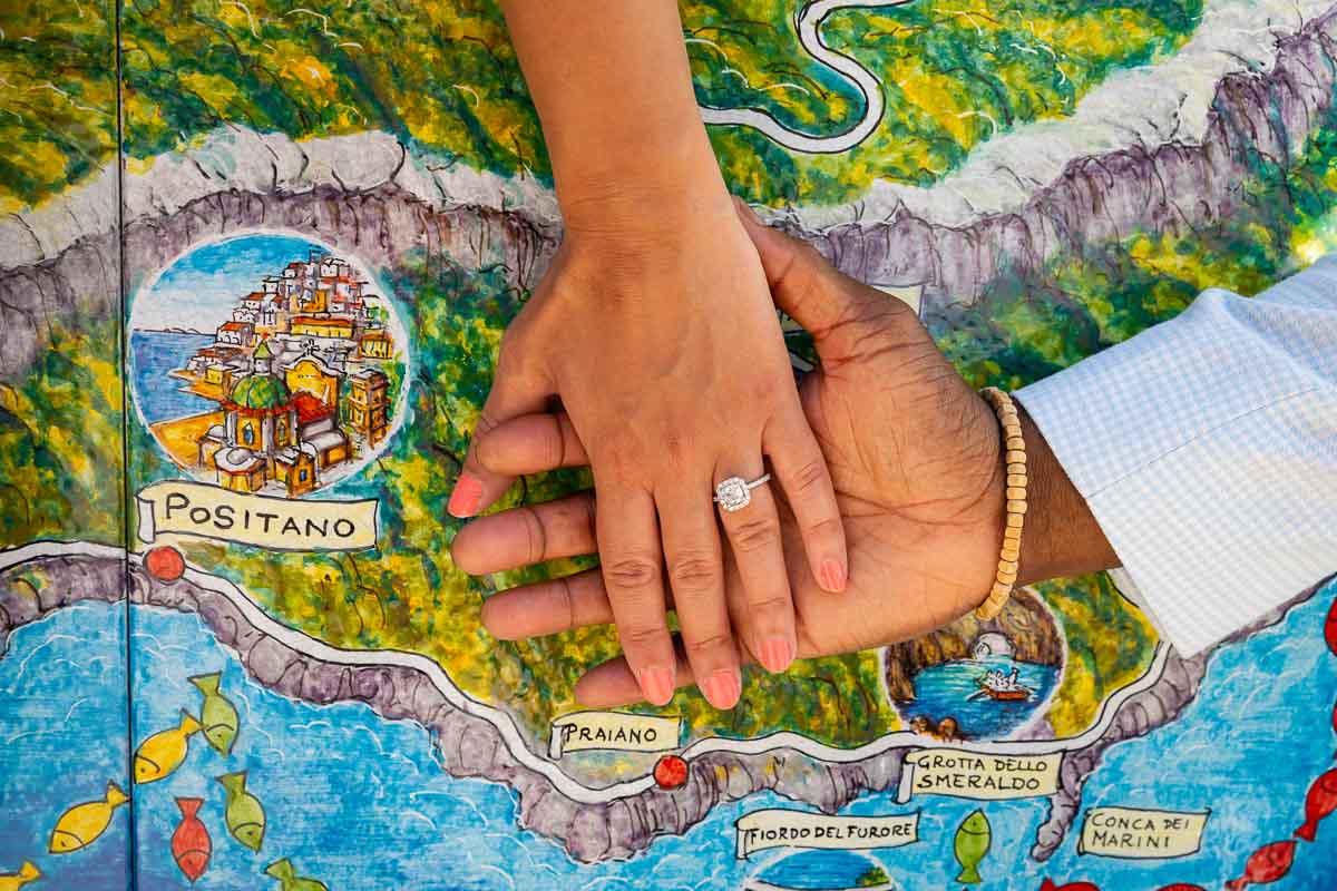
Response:
[[[881,315],[888,305],[900,303],[840,273],[808,242],[770,228],[742,199],[734,198],[734,206],[757,247],[775,306],[813,335],[822,359],[857,353],[861,333],[866,334],[860,322],[873,310]]]

